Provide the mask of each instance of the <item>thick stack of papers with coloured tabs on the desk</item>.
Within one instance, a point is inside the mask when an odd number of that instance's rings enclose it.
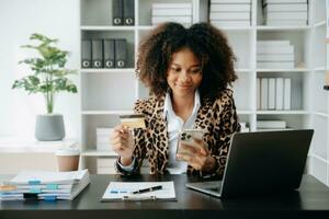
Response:
[[[22,171],[0,185],[0,200],[72,200],[90,183],[88,170]]]

